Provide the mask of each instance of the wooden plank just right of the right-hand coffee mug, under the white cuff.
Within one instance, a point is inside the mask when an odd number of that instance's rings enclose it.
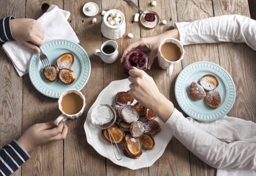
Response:
[[[176,0],[178,22],[191,22],[194,20],[214,16],[211,0]],[[219,64],[217,44],[194,44],[184,46],[185,55],[182,68],[198,61],[209,61]],[[215,175],[216,170],[190,152],[190,169],[192,176]]]

